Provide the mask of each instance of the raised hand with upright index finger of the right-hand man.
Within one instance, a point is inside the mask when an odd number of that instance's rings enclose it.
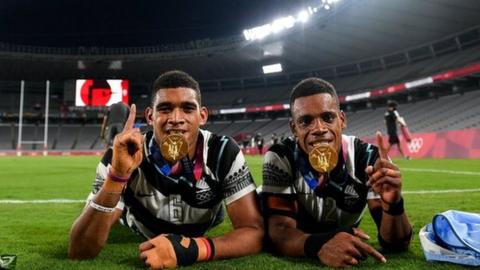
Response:
[[[373,166],[368,166],[365,170],[368,175],[367,184],[380,194],[385,203],[393,204],[401,199],[402,175],[398,167],[388,158],[382,133],[379,131],[376,140],[380,157]]]

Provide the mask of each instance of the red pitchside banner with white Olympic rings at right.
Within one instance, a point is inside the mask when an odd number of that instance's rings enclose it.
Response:
[[[400,135],[404,153],[412,158],[480,158],[480,129],[463,129],[443,132],[412,133],[412,141],[407,143]],[[374,137],[365,141],[375,144]],[[385,144],[388,137],[384,135]],[[399,157],[393,146],[390,157]]]

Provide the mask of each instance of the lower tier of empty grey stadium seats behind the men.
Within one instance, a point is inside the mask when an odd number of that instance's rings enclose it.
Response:
[[[408,120],[413,133],[439,132],[480,128],[480,89],[463,94],[443,96],[418,102],[401,104],[402,116]],[[346,133],[360,138],[372,137],[376,130],[384,130],[383,114],[386,106],[364,109],[347,113]],[[238,137],[239,134],[260,133],[266,144],[271,143],[272,134],[289,136],[288,118],[259,118],[233,121],[209,121],[205,128],[214,132]],[[0,150],[16,148],[18,125],[0,124]],[[24,140],[43,140],[42,124],[25,124]],[[101,150],[103,143],[99,138],[99,124],[52,124],[49,126],[48,148],[50,150]],[[242,140],[244,138],[242,137]],[[239,141],[239,143],[242,141]],[[41,150],[41,144],[27,144],[23,150]]]

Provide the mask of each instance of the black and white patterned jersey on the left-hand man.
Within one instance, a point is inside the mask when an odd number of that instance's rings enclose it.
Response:
[[[183,172],[166,176],[157,170],[149,148],[153,133],[144,136],[143,161],[131,175],[116,207],[123,210],[123,223],[147,238],[161,233],[202,235],[222,221],[222,202],[228,205],[255,190],[245,158],[231,138],[200,130],[205,162],[201,177],[195,180]],[[111,158],[110,149],[98,164],[89,199],[107,177]]]

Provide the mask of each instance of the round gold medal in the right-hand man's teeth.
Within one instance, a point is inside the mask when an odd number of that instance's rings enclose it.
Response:
[[[319,173],[328,173],[337,166],[337,151],[328,144],[317,144],[308,154],[308,161]]]

